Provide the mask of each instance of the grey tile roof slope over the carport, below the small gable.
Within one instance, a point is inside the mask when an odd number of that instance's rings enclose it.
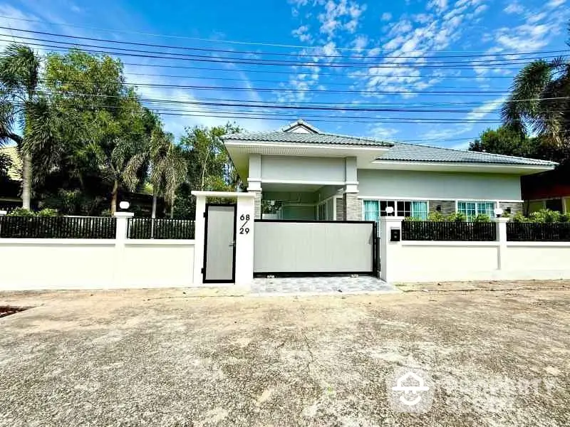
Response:
[[[392,147],[390,142],[379,139],[349,137],[334,134],[311,134],[297,132],[249,132],[242,134],[224,135],[224,141],[254,141],[254,142],[288,142],[291,144],[341,144],[367,145],[371,147]]]

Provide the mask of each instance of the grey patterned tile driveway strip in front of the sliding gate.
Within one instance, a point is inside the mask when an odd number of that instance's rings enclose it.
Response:
[[[333,276],[304,278],[256,278],[254,295],[316,295],[399,292],[393,285],[371,276]]]

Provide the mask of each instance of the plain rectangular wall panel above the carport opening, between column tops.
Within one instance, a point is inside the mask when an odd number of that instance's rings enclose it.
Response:
[[[262,181],[344,184],[343,158],[261,156]]]

